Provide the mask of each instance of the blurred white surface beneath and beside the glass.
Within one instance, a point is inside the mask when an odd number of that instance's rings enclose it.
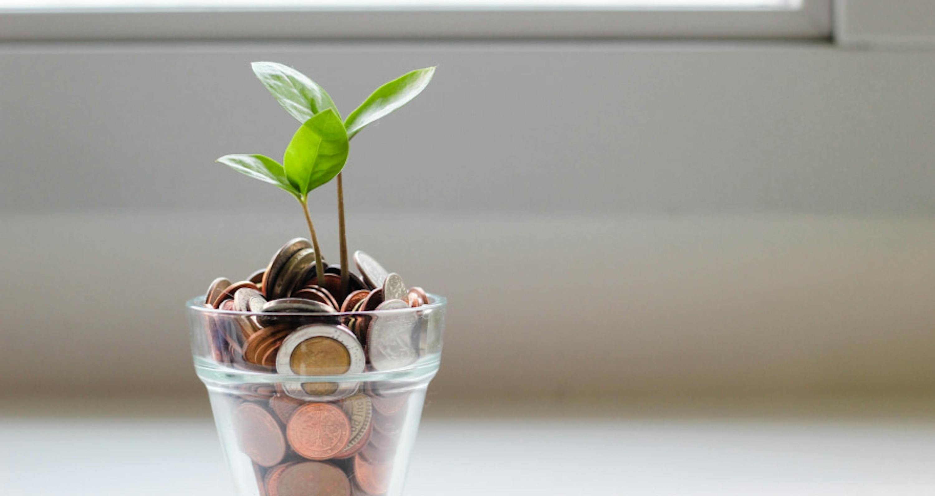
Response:
[[[426,419],[406,494],[856,496],[935,487],[931,417],[548,418],[541,405],[528,409],[537,417]],[[230,494],[207,418],[7,417],[0,440],[5,495]]]

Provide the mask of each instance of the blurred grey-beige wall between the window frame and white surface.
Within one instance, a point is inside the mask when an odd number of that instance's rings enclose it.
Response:
[[[346,42],[0,48],[0,390],[198,390],[182,302],[303,234],[213,163],[295,127],[261,59],[345,113],[439,64],[345,180],[451,297],[442,397],[935,388],[935,53]]]

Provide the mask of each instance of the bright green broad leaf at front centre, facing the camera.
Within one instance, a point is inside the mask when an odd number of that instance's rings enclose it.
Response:
[[[286,148],[289,183],[302,197],[338,176],[348,160],[348,135],[341,118],[330,108],[306,120]]]

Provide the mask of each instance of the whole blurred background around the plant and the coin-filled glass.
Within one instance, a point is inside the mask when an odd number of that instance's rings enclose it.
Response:
[[[0,482],[227,493],[183,303],[305,234],[214,163],[281,157],[269,60],[345,114],[439,66],[344,172],[450,300],[407,494],[929,494],[933,50],[927,0],[0,0]]]

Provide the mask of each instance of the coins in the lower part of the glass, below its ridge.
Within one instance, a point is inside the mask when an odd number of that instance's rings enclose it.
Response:
[[[352,496],[387,492],[409,392],[367,388],[336,402],[281,392],[234,399],[237,447],[253,462],[259,494]]]

